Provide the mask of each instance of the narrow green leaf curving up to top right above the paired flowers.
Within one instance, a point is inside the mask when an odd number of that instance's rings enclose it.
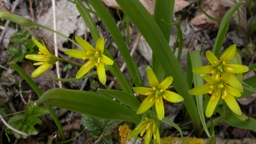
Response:
[[[238,9],[238,7],[241,6],[242,4],[244,4],[244,1],[236,3],[234,6],[232,6],[226,12],[224,17],[222,18],[222,21],[220,23],[220,28],[218,31],[218,35],[217,35],[216,41],[213,46],[213,51],[212,51],[216,56],[219,54],[222,44],[224,42],[225,36],[227,34],[230,19],[231,19],[232,15],[235,13],[235,11]]]

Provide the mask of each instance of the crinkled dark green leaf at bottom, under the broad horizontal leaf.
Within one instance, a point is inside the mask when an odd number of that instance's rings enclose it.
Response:
[[[91,116],[82,115],[83,125],[89,130],[92,135],[100,136],[101,133],[113,132],[113,127],[117,125],[117,121],[109,121],[107,119],[94,118]]]

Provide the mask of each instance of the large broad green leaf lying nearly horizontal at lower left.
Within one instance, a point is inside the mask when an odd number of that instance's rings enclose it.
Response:
[[[54,88],[45,92],[36,101],[37,105],[49,105],[75,111],[77,113],[116,121],[138,124],[140,116],[134,110],[124,107],[101,93]]]

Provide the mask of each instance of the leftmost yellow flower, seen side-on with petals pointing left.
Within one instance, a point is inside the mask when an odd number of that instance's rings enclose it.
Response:
[[[44,73],[47,69],[49,69],[55,62],[58,61],[58,58],[55,57],[51,52],[49,52],[45,45],[39,43],[34,37],[32,37],[33,42],[39,48],[38,54],[28,54],[25,56],[26,59],[41,61],[34,63],[34,65],[41,65],[39,66],[32,74],[32,77],[37,77]]]

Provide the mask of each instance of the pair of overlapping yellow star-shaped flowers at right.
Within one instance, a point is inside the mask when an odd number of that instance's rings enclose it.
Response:
[[[206,57],[211,63],[210,66],[197,67],[193,69],[195,74],[201,74],[207,84],[195,87],[190,90],[191,95],[212,94],[211,99],[206,107],[206,117],[212,116],[215,107],[220,99],[225,100],[228,107],[237,115],[242,115],[241,109],[235,99],[240,97],[243,92],[243,86],[234,74],[244,73],[249,70],[246,66],[230,64],[236,54],[236,45],[231,45],[218,60],[211,52],[206,52]],[[211,76],[205,74],[212,74]]]

